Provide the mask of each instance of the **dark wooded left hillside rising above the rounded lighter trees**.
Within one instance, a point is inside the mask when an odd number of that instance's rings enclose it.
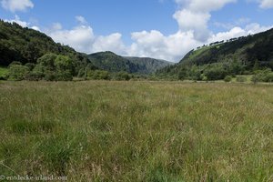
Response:
[[[71,57],[76,72],[83,62],[88,61],[73,48],[56,44],[51,37],[41,32],[0,20],[0,66],[8,66],[14,61],[35,64],[39,57],[47,53]]]

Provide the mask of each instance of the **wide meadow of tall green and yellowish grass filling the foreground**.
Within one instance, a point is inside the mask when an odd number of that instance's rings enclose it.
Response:
[[[0,175],[272,181],[273,86],[0,82]]]

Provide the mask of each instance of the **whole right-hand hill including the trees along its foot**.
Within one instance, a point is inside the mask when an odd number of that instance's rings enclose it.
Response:
[[[273,29],[197,47],[177,65],[167,66],[157,71],[157,75],[222,79],[265,68],[273,68]]]

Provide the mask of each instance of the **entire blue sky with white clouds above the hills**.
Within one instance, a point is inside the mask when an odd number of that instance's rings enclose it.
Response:
[[[273,27],[273,0],[0,0],[0,18],[86,54],[178,62],[200,45]]]

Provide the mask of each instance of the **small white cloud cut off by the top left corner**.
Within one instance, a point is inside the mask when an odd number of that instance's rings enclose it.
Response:
[[[1,5],[11,12],[25,11],[27,8],[33,8],[34,4],[31,0],[2,0]]]

